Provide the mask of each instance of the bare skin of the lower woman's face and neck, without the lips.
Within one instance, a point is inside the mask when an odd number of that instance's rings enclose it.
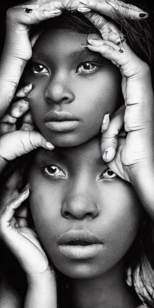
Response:
[[[46,166],[58,167],[61,176],[48,175]],[[106,169],[95,137],[78,147],[40,149],[30,170],[34,224],[55,266],[72,278],[73,307],[138,304],[124,281],[124,255],[136,237],[141,207],[132,186],[116,176],[107,178]],[[56,241],[71,229],[91,230],[103,242],[101,251],[85,260],[63,255]]]

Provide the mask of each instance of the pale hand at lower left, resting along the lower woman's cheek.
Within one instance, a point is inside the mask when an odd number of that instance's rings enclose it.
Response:
[[[0,211],[0,236],[18,259],[26,275],[51,274],[47,256],[43,251],[36,233],[18,224],[14,216],[15,210],[29,196],[29,188]],[[53,275],[54,279],[54,275]]]

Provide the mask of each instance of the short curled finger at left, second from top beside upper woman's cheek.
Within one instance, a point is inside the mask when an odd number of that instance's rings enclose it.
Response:
[[[9,115],[14,118],[19,118],[29,109],[29,102],[26,99],[20,99],[10,106]]]

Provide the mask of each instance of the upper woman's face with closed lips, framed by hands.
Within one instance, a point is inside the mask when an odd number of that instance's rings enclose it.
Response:
[[[24,82],[32,83],[30,108],[54,145],[82,144],[113,114],[121,91],[119,68],[83,45],[88,34],[48,30],[36,41]]]

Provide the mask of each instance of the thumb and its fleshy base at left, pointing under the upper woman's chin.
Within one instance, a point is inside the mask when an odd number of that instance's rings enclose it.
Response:
[[[54,145],[47,142],[39,132],[10,132],[0,138],[0,157],[4,160],[13,160],[39,147],[54,149]]]

